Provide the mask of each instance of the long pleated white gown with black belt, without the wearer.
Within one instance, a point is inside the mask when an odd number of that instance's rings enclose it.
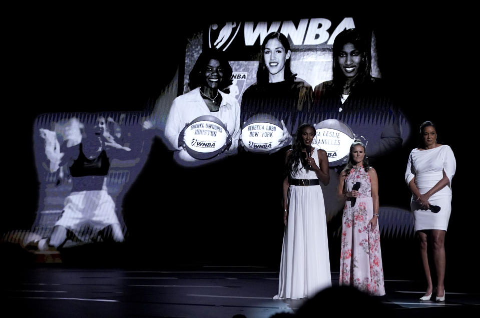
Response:
[[[319,166],[317,151],[312,158]],[[318,179],[315,172],[303,167],[291,178]],[[278,294],[273,298],[309,298],[332,285],[322,188],[290,185],[288,206]]]

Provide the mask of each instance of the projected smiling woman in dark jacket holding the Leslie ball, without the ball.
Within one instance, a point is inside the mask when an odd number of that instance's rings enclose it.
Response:
[[[333,43],[333,79],[315,87],[315,122],[337,119],[367,146],[370,158],[401,147],[400,113],[381,79],[371,76],[371,33],[344,30]],[[321,145],[320,145],[321,146]]]

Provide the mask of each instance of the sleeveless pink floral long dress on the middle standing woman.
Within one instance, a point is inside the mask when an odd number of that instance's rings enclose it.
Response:
[[[360,195],[343,209],[339,285],[351,285],[370,295],[385,294],[378,222],[370,231],[373,217],[370,176],[363,167],[350,170],[345,178],[346,191],[360,182]]]

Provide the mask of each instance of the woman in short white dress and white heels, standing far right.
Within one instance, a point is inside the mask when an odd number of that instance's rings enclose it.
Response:
[[[433,292],[427,255],[427,242],[430,241],[437,277],[435,300],[444,301],[444,240],[450,218],[451,179],[456,162],[451,148],[437,143],[437,130],[432,122],[421,124],[420,140],[423,147],[411,151],[405,171],[405,181],[413,194],[413,223],[420,241],[420,254],[427,280],[425,295],[420,300],[430,300]]]

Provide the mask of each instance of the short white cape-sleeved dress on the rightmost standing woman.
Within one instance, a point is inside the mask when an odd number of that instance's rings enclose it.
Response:
[[[423,194],[443,178],[443,171],[449,180],[445,187],[428,199],[430,204],[440,207],[438,213],[422,210],[420,204],[412,196],[410,206],[413,211],[415,231],[427,229],[446,231],[451,212],[451,179],[455,174],[455,168],[453,151],[447,145],[425,150],[413,149],[410,152],[405,171],[407,184],[415,177],[415,185]]]

